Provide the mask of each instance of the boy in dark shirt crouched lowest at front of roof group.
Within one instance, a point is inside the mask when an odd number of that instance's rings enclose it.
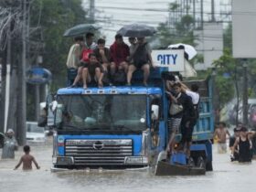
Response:
[[[98,87],[103,86],[103,67],[96,59],[96,55],[91,53],[89,55],[89,63],[85,63],[82,69],[82,81],[83,89],[87,89],[87,83],[95,80],[98,83]]]

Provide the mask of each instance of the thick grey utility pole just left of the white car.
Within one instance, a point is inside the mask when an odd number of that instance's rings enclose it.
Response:
[[[22,27],[22,59],[20,69],[18,70],[18,78],[20,86],[18,86],[17,99],[17,141],[18,144],[26,144],[26,121],[27,121],[27,102],[26,102],[26,61],[27,61],[27,0],[23,0],[23,27]]]

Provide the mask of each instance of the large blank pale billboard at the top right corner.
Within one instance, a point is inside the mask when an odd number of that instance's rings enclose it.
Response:
[[[256,1],[232,1],[233,57],[256,58]]]

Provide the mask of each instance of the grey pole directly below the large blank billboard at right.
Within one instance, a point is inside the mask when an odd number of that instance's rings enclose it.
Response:
[[[242,123],[248,125],[248,77],[247,59],[242,59],[243,68],[243,96],[242,96]]]

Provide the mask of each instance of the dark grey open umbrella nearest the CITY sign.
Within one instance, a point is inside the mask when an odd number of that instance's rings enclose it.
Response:
[[[123,37],[148,37],[155,34],[155,28],[144,24],[131,24],[121,27],[117,34]]]

